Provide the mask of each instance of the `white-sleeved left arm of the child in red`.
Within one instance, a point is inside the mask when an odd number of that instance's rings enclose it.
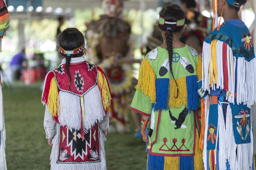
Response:
[[[52,146],[51,140],[56,135],[56,122],[51,116],[48,108],[45,109],[45,117],[44,117],[44,129],[46,133],[47,142],[50,146]]]

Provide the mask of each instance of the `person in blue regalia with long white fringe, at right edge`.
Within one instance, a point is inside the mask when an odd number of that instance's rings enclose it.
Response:
[[[202,87],[209,92],[202,102],[205,169],[255,169],[250,107],[256,98],[256,60],[251,34],[238,15],[245,3],[214,1],[215,29],[203,44]]]

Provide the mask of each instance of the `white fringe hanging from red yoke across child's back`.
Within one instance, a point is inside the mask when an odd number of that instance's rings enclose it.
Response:
[[[78,130],[81,128],[81,102],[80,96],[67,92],[59,92],[60,115],[58,120],[61,126]],[[101,93],[98,86],[93,87],[84,95],[85,123],[84,128],[90,129],[95,123],[100,123],[105,116],[102,106]]]

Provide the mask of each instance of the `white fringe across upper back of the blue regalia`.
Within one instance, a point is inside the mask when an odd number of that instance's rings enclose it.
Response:
[[[215,89],[213,82],[210,82],[209,71],[211,71],[212,64],[210,65],[210,43],[204,42],[203,44],[203,64],[202,64],[202,88],[203,90],[210,91]],[[224,71],[223,71],[223,55],[222,50],[223,42],[217,40],[216,43],[216,63],[218,77],[216,79],[216,88],[224,89]],[[246,104],[248,107],[253,105],[256,101],[256,59],[246,61],[243,57],[233,57],[232,49],[227,45],[227,69],[228,69],[228,91],[226,100],[234,104],[235,94],[235,69],[237,69],[237,104]],[[212,75],[213,76],[213,75]],[[210,83],[212,88],[210,88]]]

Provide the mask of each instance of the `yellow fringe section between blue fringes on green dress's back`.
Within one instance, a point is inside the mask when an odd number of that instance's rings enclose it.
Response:
[[[172,108],[180,108],[182,105],[187,106],[187,84],[186,77],[179,78],[176,80],[179,87],[178,98],[175,98],[177,95],[176,84],[173,79],[170,79],[170,96],[169,96],[169,106]]]

